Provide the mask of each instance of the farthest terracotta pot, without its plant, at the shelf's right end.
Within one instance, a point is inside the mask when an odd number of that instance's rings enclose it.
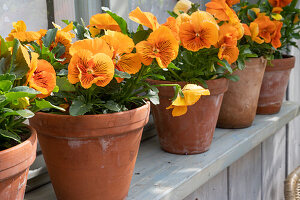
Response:
[[[266,67],[257,106],[257,114],[275,114],[280,111],[289,82],[290,72],[295,66],[294,56],[272,60]]]

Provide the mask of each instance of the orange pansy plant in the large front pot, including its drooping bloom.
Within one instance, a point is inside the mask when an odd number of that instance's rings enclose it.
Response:
[[[25,24],[17,22],[8,36],[8,40],[19,39],[34,57],[47,62],[41,64],[43,70],[52,66],[56,73],[54,91],[47,87],[35,89],[45,94],[49,102],[65,108],[60,114],[122,112],[142,106],[147,100],[158,104],[157,87],[161,86],[174,87],[174,100],[186,97],[189,105],[200,98],[200,86],[189,85],[181,90],[178,84],[153,86],[146,81],[161,77],[154,72],[154,66],[162,71],[178,55],[179,44],[170,28],[144,19],[151,30],[140,26],[136,32],[129,32],[123,18],[104,9],[106,13],[92,16],[87,26],[83,21],[64,20],[64,28],[53,24],[52,29],[31,32],[20,29]],[[130,18],[143,15],[138,9],[135,12]],[[77,41],[73,42],[75,36]]]

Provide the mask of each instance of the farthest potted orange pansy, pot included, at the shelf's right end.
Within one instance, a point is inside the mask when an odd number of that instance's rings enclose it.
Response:
[[[280,111],[287,89],[290,72],[295,66],[295,57],[290,53],[291,47],[296,47],[295,40],[300,39],[300,9],[296,8],[298,0],[294,1],[262,1],[256,9],[270,16],[281,26],[274,51],[274,60],[268,63],[264,74],[258,100],[258,114],[274,114]],[[281,45],[281,46],[280,46]]]

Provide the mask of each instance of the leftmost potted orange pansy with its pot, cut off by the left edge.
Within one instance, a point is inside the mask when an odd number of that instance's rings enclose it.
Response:
[[[22,23],[22,22],[20,22]],[[19,24],[20,24],[19,23]],[[19,28],[19,24],[14,24]],[[25,39],[30,37],[22,35]],[[43,98],[56,86],[55,71],[19,40],[0,37],[0,199],[22,200],[36,157],[36,131],[24,121],[39,110],[58,108]],[[63,110],[63,109],[62,109]]]

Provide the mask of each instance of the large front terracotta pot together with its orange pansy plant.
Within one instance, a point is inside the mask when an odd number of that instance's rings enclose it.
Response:
[[[30,42],[30,49],[57,72],[59,90],[47,100],[66,109],[39,112],[30,119],[58,199],[126,198],[149,119],[148,100],[159,103],[159,85],[145,81],[152,69],[141,64],[135,43],[150,35],[160,46],[149,53],[159,55],[164,66],[178,52],[169,28],[151,34],[142,27],[129,32],[124,19],[104,10],[92,16],[88,26],[64,20],[65,28],[54,24]],[[78,39],[74,43],[72,30]],[[161,48],[164,53],[158,52]],[[175,96],[184,95],[179,85],[169,86],[175,87]]]

